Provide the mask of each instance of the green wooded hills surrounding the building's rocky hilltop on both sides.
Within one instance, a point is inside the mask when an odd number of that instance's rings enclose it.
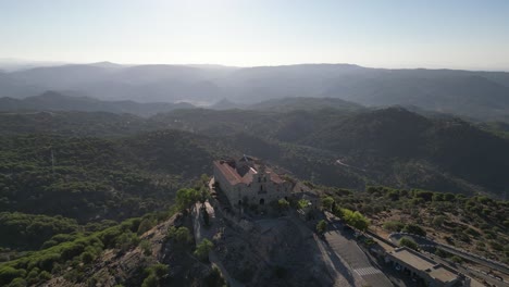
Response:
[[[360,212],[508,262],[504,126],[350,108],[0,113],[0,285],[69,266],[71,282],[85,280],[104,250],[147,245],[139,235],[189,202],[177,190],[212,160],[243,153],[307,180],[352,221]]]

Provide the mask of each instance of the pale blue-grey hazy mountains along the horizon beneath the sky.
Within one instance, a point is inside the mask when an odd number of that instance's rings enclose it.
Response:
[[[398,104],[475,121],[509,121],[506,72],[384,70],[349,64],[228,67],[102,62],[0,73],[0,97],[22,99],[47,90],[107,101],[213,104],[226,100],[223,103],[232,107],[288,97],[334,98],[367,107]]]

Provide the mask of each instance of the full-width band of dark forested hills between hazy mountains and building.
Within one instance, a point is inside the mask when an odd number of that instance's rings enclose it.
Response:
[[[384,184],[501,197],[509,184],[504,176],[509,164],[504,129],[480,128],[455,117],[426,117],[402,108],[282,112],[194,109],[149,118],[84,112],[3,113],[0,117],[3,135],[127,137],[127,146],[139,138],[148,140],[137,135],[149,130],[181,129],[193,133],[194,140],[200,138],[207,152],[252,154],[298,177],[348,188]],[[142,157],[136,157],[160,161],[159,154],[167,150],[152,144],[140,149]],[[137,164],[159,169],[153,163]]]

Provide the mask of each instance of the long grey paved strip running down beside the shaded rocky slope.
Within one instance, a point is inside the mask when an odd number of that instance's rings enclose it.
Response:
[[[325,240],[328,246],[343,258],[362,279],[371,286],[392,287],[390,280],[368,259],[365,253],[359,248],[352,236],[342,230],[337,223],[332,224],[332,230],[325,233]]]

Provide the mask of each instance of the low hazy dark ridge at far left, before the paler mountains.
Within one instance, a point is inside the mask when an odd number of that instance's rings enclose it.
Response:
[[[55,91],[25,99],[0,98],[0,111],[83,111],[131,113],[149,116],[160,112],[176,109],[193,109],[190,103],[152,102],[139,103],[134,101],[101,101],[89,97],[70,97]]]

